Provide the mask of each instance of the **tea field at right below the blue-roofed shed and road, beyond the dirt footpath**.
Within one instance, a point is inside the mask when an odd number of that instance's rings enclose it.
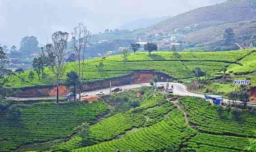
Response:
[[[242,119],[232,119],[232,111],[224,112],[225,119],[220,119],[217,107],[201,98],[185,97],[180,102],[184,105],[189,115],[190,123],[196,125],[197,129],[210,134],[232,135],[237,137],[256,137],[256,114],[242,111]]]

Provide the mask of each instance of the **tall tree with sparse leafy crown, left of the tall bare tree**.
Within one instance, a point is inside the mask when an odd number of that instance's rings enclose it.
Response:
[[[65,73],[65,54],[67,48],[68,33],[57,31],[52,34],[53,44],[46,45],[47,64],[49,70],[56,76],[57,103],[59,103],[59,80]]]

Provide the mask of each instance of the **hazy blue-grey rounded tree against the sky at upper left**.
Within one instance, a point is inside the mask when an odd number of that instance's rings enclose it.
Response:
[[[38,40],[35,36],[25,36],[20,42],[19,51],[25,55],[30,55],[34,52],[39,52]]]

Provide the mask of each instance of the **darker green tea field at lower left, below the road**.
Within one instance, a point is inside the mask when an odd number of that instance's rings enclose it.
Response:
[[[82,122],[95,121],[107,112],[102,101],[88,103],[36,103],[18,106],[21,116],[10,121],[7,115],[0,117],[0,152],[7,152],[21,144],[45,142],[65,138]]]

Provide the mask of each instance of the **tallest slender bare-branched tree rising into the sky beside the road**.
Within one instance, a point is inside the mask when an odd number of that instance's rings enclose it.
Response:
[[[84,60],[85,60],[85,53],[86,48],[88,45],[88,40],[90,37],[90,32],[87,30],[87,28],[84,26],[83,23],[79,23],[71,32],[72,35],[72,42],[74,51],[78,60],[78,67],[72,65],[72,67],[76,70],[76,72],[79,75],[79,79],[81,83],[83,82],[83,75],[84,75]],[[82,55],[82,69],[81,69],[81,55]],[[82,87],[79,88],[79,100],[81,98],[80,94],[82,91]]]

